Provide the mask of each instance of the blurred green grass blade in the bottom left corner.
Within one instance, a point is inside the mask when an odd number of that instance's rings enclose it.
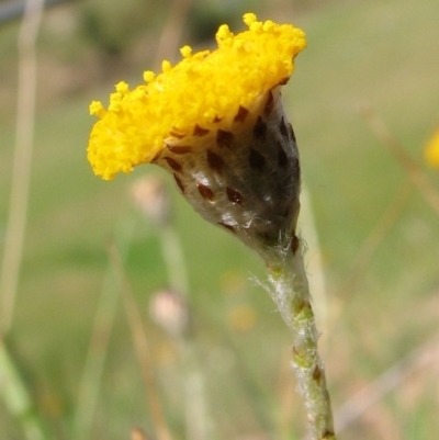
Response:
[[[0,343],[0,395],[27,440],[45,439],[30,393],[4,342]]]

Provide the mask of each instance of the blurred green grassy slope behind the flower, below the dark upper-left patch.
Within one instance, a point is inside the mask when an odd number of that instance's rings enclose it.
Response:
[[[323,328],[322,342],[335,409],[437,332],[439,219],[416,189],[354,289],[340,296],[362,244],[406,179],[358,109],[364,102],[372,105],[424,167],[423,145],[439,113],[437,16],[436,0],[340,1],[285,16],[308,37],[284,94],[320,239],[327,312],[336,316]],[[135,179],[164,173],[143,167],[108,183],[92,176],[86,160],[92,124],[88,103],[110,89],[102,86],[41,105],[14,347],[53,438],[72,438],[78,384],[108,268],[106,244],[117,225],[135,221],[126,271],[147,321],[170,426],[182,438],[176,349],[148,320],[148,298],[166,285],[166,268],[154,228],[143,223],[130,200]],[[0,120],[0,133],[1,238],[12,168],[10,115]],[[439,173],[427,172],[439,189]],[[219,438],[273,433],[282,396],[294,384],[285,374],[286,328],[266,292],[249,281],[251,274],[263,280],[262,264],[232,236],[199,218],[175,189],[172,203]],[[243,304],[258,316],[247,332],[234,330],[227,320]],[[135,425],[150,428],[122,305],[108,356],[92,438],[115,440],[127,438]],[[385,429],[380,431],[385,424],[387,432],[405,440],[434,438],[439,428],[435,386],[431,368],[415,372],[340,438],[385,438]],[[292,399],[291,426],[299,436],[304,432],[303,411],[294,393]],[[0,437],[21,438],[20,425],[3,404]]]

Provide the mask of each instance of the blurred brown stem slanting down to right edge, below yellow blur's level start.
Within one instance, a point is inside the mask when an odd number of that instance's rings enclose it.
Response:
[[[439,214],[439,191],[435,188],[419,165],[405,153],[385,123],[368,106],[362,115],[376,137],[389,148],[395,159],[404,168],[412,182],[417,187],[430,206]]]

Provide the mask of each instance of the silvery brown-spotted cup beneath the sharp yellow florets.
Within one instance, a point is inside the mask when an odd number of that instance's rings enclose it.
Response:
[[[264,259],[289,248],[299,216],[301,170],[279,87],[209,129],[168,138],[154,162],[173,174],[199,214]]]

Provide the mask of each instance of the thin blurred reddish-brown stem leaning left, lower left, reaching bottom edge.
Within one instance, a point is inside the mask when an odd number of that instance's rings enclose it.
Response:
[[[157,440],[171,440],[171,433],[166,424],[157,380],[155,377],[154,366],[150,359],[149,343],[146,338],[145,327],[142,321],[133,291],[125,275],[121,255],[114,242],[109,246],[110,261],[113,266],[119,287],[122,295],[122,301],[125,307],[126,317],[132,334],[135,352],[142,370],[145,391],[148,398],[151,420],[156,430]]]

